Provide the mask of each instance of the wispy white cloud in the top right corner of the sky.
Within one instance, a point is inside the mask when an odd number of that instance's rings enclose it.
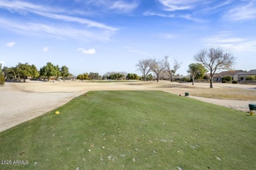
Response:
[[[247,1],[244,1],[247,3]],[[224,19],[239,21],[239,20],[255,20],[256,19],[256,1],[249,1],[245,5],[234,7],[223,16]]]

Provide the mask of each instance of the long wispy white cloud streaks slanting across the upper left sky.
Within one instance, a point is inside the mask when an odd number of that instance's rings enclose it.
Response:
[[[8,9],[11,12],[18,12],[18,14],[33,13],[38,16],[50,18],[51,20],[58,20],[58,22],[64,23],[60,27],[58,24],[54,25],[54,21],[45,22],[45,20],[14,20],[12,18],[1,18],[1,27],[5,29],[11,29],[12,31],[34,34],[47,33],[49,35],[55,35],[56,37],[72,37],[74,39],[86,39],[95,41],[109,41],[110,36],[113,35],[118,29],[109,25],[88,20],[85,18],[79,18],[70,16],[72,12],[66,12],[68,10],[58,9],[43,5],[34,5],[32,3],[25,3],[22,1],[0,1],[0,9]],[[20,12],[22,11],[22,12]],[[68,22],[74,22],[75,24],[69,24]],[[56,23],[56,22],[55,22]],[[71,32],[70,32],[71,31]]]

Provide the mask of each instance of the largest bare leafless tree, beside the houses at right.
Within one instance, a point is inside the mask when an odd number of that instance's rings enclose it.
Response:
[[[231,69],[236,58],[231,52],[224,51],[222,48],[209,48],[198,52],[194,59],[203,63],[203,65],[210,71],[210,88],[213,88],[213,75],[219,69]]]

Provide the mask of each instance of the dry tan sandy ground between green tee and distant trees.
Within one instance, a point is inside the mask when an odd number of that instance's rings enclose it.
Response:
[[[249,111],[249,103],[256,103],[256,86],[242,84],[214,84],[214,90],[222,93],[234,93],[238,96],[244,93],[249,100],[210,99],[190,95],[208,103],[230,107],[232,109]],[[209,95],[214,92],[209,84],[180,84],[176,82],[6,82],[0,87],[0,131],[9,129],[22,122],[49,112],[70,101],[74,97],[91,90],[162,90],[184,95],[191,92],[195,95],[203,92]],[[202,96],[202,94],[200,94]],[[200,96],[199,95],[199,96]],[[240,95],[239,95],[240,96]],[[242,96],[243,97],[243,96]],[[238,97],[239,99],[239,97]]]

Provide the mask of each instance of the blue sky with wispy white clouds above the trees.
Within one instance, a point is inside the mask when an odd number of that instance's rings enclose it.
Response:
[[[0,0],[0,61],[70,73],[138,73],[139,59],[169,56],[187,75],[194,54],[230,50],[234,69],[256,69],[256,1]]]

